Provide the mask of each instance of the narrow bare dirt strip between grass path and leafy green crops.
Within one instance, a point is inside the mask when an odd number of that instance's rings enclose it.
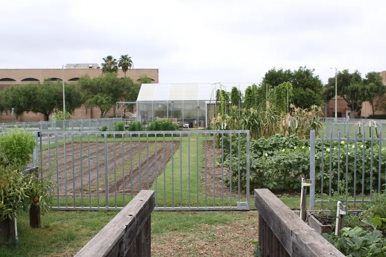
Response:
[[[218,157],[221,156],[221,149],[216,149],[216,151],[213,151],[213,142],[207,143],[207,156],[205,156],[205,151],[203,151],[203,167],[201,169],[201,186],[203,188],[203,193],[205,194],[205,166],[207,166],[207,195],[208,197],[213,197],[214,192],[216,192],[216,197],[222,196],[222,189],[224,198],[230,198],[231,192],[229,190],[229,187],[225,182],[222,183],[222,168],[216,167],[215,168],[215,175],[213,175],[213,155],[215,154],[216,160],[218,160]],[[206,160],[208,158],[208,160]],[[226,178],[229,178],[229,168],[224,167],[224,173],[223,173],[224,180]],[[215,183],[215,186],[213,185]],[[234,184],[233,184],[234,186]],[[215,190],[214,190],[215,189]],[[232,188],[232,198],[238,197],[237,189]],[[240,193],[240,197],[246,197],[245,194]]]

